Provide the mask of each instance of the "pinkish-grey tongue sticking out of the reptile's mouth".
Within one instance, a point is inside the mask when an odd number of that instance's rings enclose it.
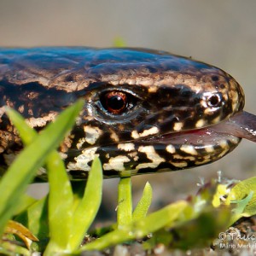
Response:
[[[232,118],[219,125],[212,125],[212,131],[246,138],[256,143],[256,115],[245,111],[236,113]]]

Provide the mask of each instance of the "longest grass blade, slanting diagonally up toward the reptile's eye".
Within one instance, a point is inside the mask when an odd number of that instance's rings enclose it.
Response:
[[[3,233],[5,224],[15,212],[16,202],[24,193],[27,184],[32,181],[38,168],[44,164],[48,154],[61,143],[67,131],[72,128],[74,116],[79,114],[83,105],[83,102],[78,102],[61,113],[54,123],[42,131],[40,136],[17,156],[3,176],[0,183],[0,233]],[[14,110],[9,109],[8,114],[12,120],[17,117]]]

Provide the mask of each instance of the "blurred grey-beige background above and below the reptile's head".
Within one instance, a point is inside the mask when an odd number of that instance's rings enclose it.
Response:
[[[109,47],[123,40],[130,47],[192,56],[235,77],[244,88],[246,110],[256,114],[255,14],[254,0],[0,0],[0,46]],[[149,181],[154,207],[160,207],[195,194],[199,178],[217,177],[218,170],[224,177],[252,177],[255,153],[255,144],[242,141],[233,153],[212,165],[134,177],[135,197]],[[117,182],[104,183],[103,202],[110,212],[117,204]]]

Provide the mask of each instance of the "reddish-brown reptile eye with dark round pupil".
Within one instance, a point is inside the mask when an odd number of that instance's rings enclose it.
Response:
[[[120,114],[134,107],[134,98],[127,92],[113,90],[103,94],[100,101],[108,113]]]

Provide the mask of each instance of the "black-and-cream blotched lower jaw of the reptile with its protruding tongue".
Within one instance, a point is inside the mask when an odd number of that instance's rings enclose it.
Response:
[[[255,115],[241,112],[201,129],[73,150],[69,152],[71,161],[67,169],[90,170],[89,163],[98,154],[105,162],[104,170],[124,172],[124,176],[155,172],[156,169],[181,170],[224,157],[236,148],[241,138],[256,142]]]

